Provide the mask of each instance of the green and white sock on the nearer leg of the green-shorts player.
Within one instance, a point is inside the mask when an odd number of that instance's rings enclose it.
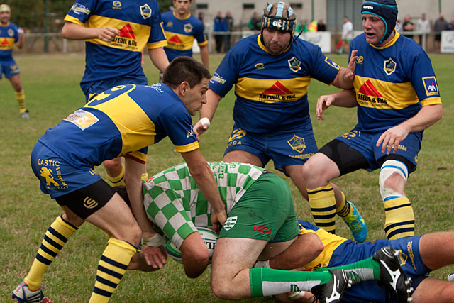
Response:
[[[249,270],[250,294],[265,297],[285,292],[311,291],[312,287],[331,280],[330,272],[301,272],[251,268]]]

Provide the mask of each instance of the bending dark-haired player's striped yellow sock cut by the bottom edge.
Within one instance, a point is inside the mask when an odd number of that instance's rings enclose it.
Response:
[[[96,282],[89,303],[108,302],[137,249],[126,241],[110,238],[96,270]]]

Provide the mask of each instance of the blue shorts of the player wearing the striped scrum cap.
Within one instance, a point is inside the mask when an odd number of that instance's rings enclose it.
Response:
[[[256,155],[264,167],[272,160],[275,169],[285,172],[284,166],[303,165],[319,149],[312,128],[262,134],[248,133],[235,124],[224,155],[233,150]]]

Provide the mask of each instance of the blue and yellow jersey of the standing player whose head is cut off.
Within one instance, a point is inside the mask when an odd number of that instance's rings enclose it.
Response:
[[[156,0],[77,0],[65,21],[88,28],[117,28],[112,42],[86,40],[85,74],[82,83],[124,75],[143,76],[140,59],[148,49],[167,45]]]

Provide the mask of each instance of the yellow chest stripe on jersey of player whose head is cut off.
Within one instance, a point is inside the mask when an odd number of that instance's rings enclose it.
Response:
[[[108,46],[109,48],[119,48],[133,52],[141,52],[148,40],[137,39],[137,37],[148,37],[151,31],[150,26],[97,15],[90,16],[84,26],[88,28],[104,28],[105,26],[110,26],[118,29],[121,31],[121,35],[117,35],[111,42],[104,42],[98,38],[87,41]]]

